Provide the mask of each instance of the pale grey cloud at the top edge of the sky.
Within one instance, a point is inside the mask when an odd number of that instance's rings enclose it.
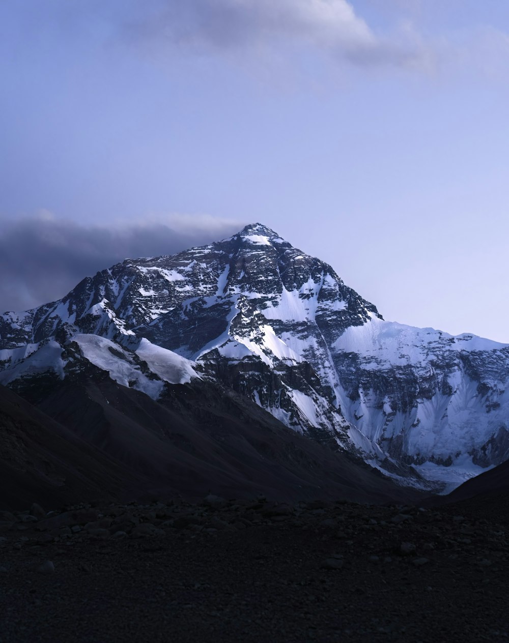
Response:
[[[158,0],[131,13],[122,30],[138,42],[203,53],[300,42],[362,66],[427,65],[430,57],[409,30],[376,35],[347,0]]]

